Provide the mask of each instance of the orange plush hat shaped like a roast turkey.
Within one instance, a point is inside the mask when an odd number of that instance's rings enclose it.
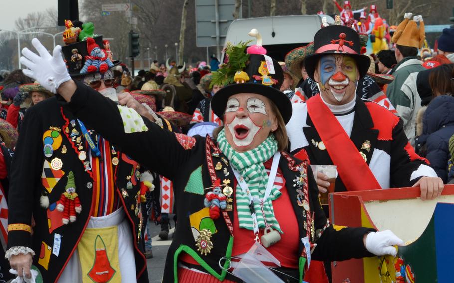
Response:
[[[397,45],[420,49],[423,46],[424,39],[426,39],[423,17],[415,16],[411,20],[412,13],[407,13],[404,17],[404,20],[397,26],[392,41]],[[419,28],[416,21],[420,23]]]

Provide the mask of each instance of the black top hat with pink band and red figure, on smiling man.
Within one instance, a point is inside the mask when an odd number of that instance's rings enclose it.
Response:
[[[304,67],[311,79],[314,79],[314,71],[320,57],[328,54],[353,57],[358,64],[360,79],[369,69],[370,59],[366,55],[361,55],[358,33],[347,26],[330,25],[317,31],[314,36],[314,54],[304,60]]]

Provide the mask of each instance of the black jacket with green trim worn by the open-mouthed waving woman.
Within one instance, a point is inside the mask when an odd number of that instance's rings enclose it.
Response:
[[[145,123],[148,127],[147,130],[126,133],[123,126],[125,120],[122,118],[124,110],[120,113],[117,105],[85,85],[77,83],[77,86],[78,88],[68,104],[68,108],[76,117],[89,123],[93,129],[99,131],[103,137],[109,139],[140,164],[173,181],[178,225],[168,251],[163,282],[177,282],[177,262],[180,253],[191,255],[200,264],[200,269],[219,280],[227,278],[236,281],[236,278],[232,278],[218,264],[222,257],[231,257],[233,242],[241,241],[241,239],[234,239],[231,236],[224,217],[213,220],[216,227],[216,232],[210,236],[213,248],[206,255],[198,251],[196,244],[200,244],[200,238],[195,237],[197,233],[193,233],[194,229],[191,227],[191,215],[205,207],[205,192],[208,190],[204,190],[204,188],[212,187],[213,175],[215,174],[215,177],[221,180],[228,179],[231,184],[234,183],[234,174],[231,167],[227,165],[229,162],[217,149],[216,141],[200,136],[188,137],[175,134],[161,129],[156,124],[147,123]],[[109,119],[104,119],[105,117],[109,117]],[[215,162],[214,164],[221,162],[229,174],[220,173],[223,170],[213,169],[210,165],[211,162]],[[312,172],[307,167],[307,161],[297,160],[283,152],[279,168],[286,180],[286,189],[298,220],[298,227],[292,228],[298,229],[300,238],[307,235],[306,216],[309,212],[310,215],[315,214],[314,229],[312,229],[315,235],[311,237],[311,241],[318,245],[312,253],[312,259],[345,260],[372,255],[363,245],[363,236],[373,230],[345,228],[336,231],[329,224],[321,209],[318,189]],[[303,175],[298,168],[304,168],[303,171],[307,172],[306,175]],[[299,185],[293,186],[294,180],[301,177],[304,179],[303,183],[306,184],[305,194],[302,193]],[[301,200],[302,197],[307,197],[310,204],[310,208],[308,208],[310,211],[307,213],[304,212],[305,209],[302,206],[298,205],[298,199]],[[231,205],[235,209],[234,194],[232,194],[232,198]],[[226,211],[226,214],[230,221],[234,220],[233,211]],[[310,227],[310,225],[306,227]],[[303,254],[301,240],[298,239],[298,242],[300,247],[297,257]],[[303,263],[300,264],[302,279],[304,261],[300,260],[300,263]]]

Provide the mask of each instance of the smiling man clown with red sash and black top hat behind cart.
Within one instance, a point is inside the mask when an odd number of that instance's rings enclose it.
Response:
[[[370,65],[360,48],[358,34],[345,26],[315,34],[315,52],[304,63],[320,93],[293,104],[287,124],[290,150],[306,149],[314,165],[336,165],[336,192],[419,186],[422,200],[439,196],[443,182],[415,153],[401,119],[355,95]],[[320,192],[329,186],[323,174],[317,175],[317,184]]]

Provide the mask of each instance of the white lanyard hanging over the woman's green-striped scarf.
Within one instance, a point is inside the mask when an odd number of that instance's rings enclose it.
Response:
[[[256,239],[258,239],[258,221],[257,221],[257,216],[255,215],[254,201],[258,202],[260,204],[263,204],[269,198],[269,195],[271,194],[271,190],[274,185],[274,180],[276,179],[277,167],[279,165],[279,159],[280,159],[280,153],[276,152],[276,154],[274,154],[273,164],[271,165],[271,172],[269,173],[269,176],[268,176],[268,184],[266,186],[265,196],[263,197],[263,199],[259,199],[257,197],[252,197],[250,190],[249,190],[249,186],[247,185],[244,178],[241,177],[239,172],[233,166],[231,166],[233,169],[233,173],[235,174],[236,181],[238,182],[239,186],[241,187],[241,190],[243,191],[244,194],[246,194],[249,197],[250,215],[252,218],[252,223],[253,223]],[[264,216],[263,216],[263,219],[264,219],[264,221],[266,221]]]

